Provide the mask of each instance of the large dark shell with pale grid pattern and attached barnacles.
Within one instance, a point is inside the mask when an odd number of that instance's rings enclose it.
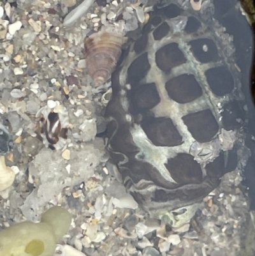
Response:
[[[151,216],[178,227],[235,170],[245,126],[240,72],[212,1],[155,8],[112,75],[108,150]]]

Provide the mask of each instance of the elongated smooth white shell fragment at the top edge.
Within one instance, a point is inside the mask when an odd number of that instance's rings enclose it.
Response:
[[[94,3],[94,0],[84,0],[77,8],[73,9],[66,17],[64,18],[63,26],[70,27],[72,26],[80,17],[82,17],[87,10]]]

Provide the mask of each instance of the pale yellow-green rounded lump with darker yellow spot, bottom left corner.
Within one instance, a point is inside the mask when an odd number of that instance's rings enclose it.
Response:
[[[52,256],[55,243],[68,231],[71,215],[52,207],[40,223],[21,222],[0,230],[0,256]]]

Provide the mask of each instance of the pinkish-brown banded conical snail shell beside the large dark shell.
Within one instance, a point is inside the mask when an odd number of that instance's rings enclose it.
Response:
[[[104,84],[115,70],[121,54],[122,38],[122,27],[109,25],[85,39],[87,69],[96,86]]]

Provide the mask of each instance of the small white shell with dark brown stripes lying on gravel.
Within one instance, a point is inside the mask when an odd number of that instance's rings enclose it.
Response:
[[[56,105],[54,109],[45,106],[37,113],[40,118],[41,137],[43,144],[50,149],[61,149],[66,144],[68,133],[68,112],[65,107]]]

